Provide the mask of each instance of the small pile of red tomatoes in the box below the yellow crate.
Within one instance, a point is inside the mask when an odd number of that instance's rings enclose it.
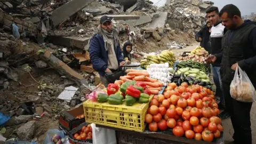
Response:
[[[87,139],[92,139],[92,127],[90,124],[87,126],[83,126],[81,131],[78,131],[73,135],[74,139],[77,140],[87,140]]]

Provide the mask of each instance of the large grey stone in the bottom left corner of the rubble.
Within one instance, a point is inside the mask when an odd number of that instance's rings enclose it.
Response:
[[[36,130],[36,121],[30,121],[18,129],[19,140],[31,140]]]

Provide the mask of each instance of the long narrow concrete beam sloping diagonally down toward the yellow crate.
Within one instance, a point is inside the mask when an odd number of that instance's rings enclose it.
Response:
[[[66,63],[59,60],[49,51],[42,53],[40,55],[41,59],[43,59],[47,64],[53,69],[57,70],[59,74],[68,77],[72,81],[74,81],[77,85],[81,86],[83,84],[88,85],[86,79],[80,74],[78,74],[74,69],[70,68]]]

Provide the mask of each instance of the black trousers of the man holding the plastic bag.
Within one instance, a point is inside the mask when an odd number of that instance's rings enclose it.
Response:
[[[252,143],[252,130],[250,111],[252,102],[241,102],[231,98],[230,84],[222,82],[223,94],[225,95],[226,110],[230,113],[234,129],[233,139],[235,143]],[[224,127],[225,131],[225,127]]]

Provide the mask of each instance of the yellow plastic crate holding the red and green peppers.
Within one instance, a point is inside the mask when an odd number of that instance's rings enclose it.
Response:
[[[151,95],[150,99],[153,97]],[[145,130],[145,115],[149,103],[135,103],[133,106],[110,105],[87,100],[83,103],[85,122],[116,127],[130,131]]]

